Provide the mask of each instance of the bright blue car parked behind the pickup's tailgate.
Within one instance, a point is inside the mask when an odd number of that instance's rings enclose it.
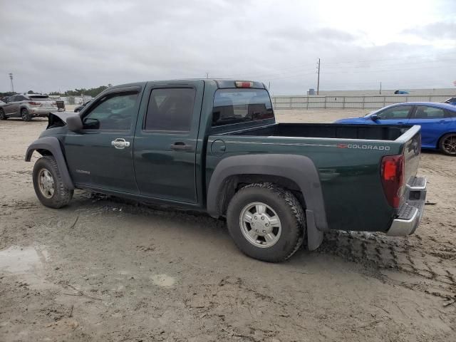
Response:
[[[420,125],[421,146],[456,156],[456,106],[408,102],[388,105],[361,118],[336,121],[351,125]]]

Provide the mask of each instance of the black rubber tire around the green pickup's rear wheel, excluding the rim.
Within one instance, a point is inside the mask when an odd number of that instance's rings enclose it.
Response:
[[[281,234],[271,247],[257,247],[242,232],[242,212],[255,202],[266,204],[279,217]],[[269,262],[289,259],[301,246],[306,231],[304,210],[299,200],[289,190],[271,183],[251,184],[239,190],[229,202],[227,225],[234,243],[244,254]]]

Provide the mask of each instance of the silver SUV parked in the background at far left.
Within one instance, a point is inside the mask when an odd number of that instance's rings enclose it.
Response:
[[[56,101],[48,95],[13,95],[7,103],[0,105],[0,120],[22,118],[24,121],[30,121],[33,117],[47,116],[57,110]]]

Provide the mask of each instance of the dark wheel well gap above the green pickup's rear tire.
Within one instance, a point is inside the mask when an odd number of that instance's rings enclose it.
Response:
[[[254,183],[273,183],[286,190],[290,190],[296,196],[303,208],[306,208],[304,195],[299,186],[293,180],[286,177],[274,175],[232,175],[224,179],[222,188],[217,197],[219,213],[224,216],[227,214],[228,204],[236,192],[242,187]]]

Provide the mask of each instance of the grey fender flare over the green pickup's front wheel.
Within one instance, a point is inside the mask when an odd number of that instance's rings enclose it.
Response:
[[[33,151],[40,152],[40,150],[46,150],[51,152],[53,157],[56,159],[58,171],[61,174],[63,184],[66,188],[73,190],[73,180],[71,180],[70,172],[68,172],[66,160],[65,157],[63,157],[62,148],[58,139],[56,137],[45,137],[33,141],[31,145],[27,148],[26,162],[29,162],[31,160],[31,155],[33,155]]]

